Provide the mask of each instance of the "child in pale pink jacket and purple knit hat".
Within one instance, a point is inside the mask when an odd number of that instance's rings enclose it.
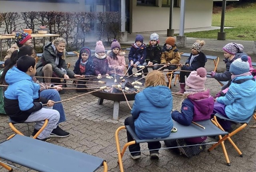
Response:
[[[114,77],[115,71],[117,76],[124,76],[125,59],[124,52],[120,52],[120,43],[114,40],[111,43],[111,51],[108,51],[108,67],[110,70],[110,76]]]

